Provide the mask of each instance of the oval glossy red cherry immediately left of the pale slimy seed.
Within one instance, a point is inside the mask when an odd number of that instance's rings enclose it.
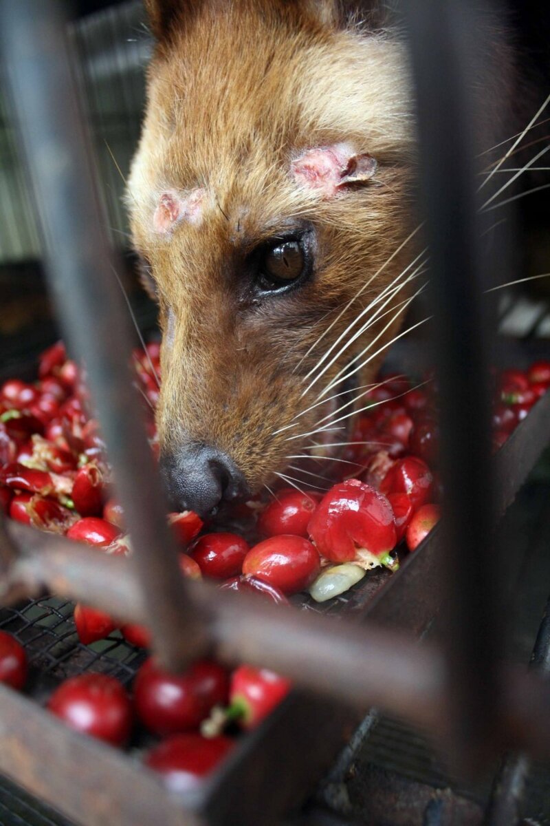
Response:
[[[317,549],[303,536],[272,536],[251,548],[242,573],[280,588],[284,594],[305,591],[321,570]]]

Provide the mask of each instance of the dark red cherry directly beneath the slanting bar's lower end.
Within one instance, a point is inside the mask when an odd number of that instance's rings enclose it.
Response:
[[[226,705],[228,673],[217,662],[199,660],[184,674],[171,674],[149,657],[134,682],[134,708],[155,734],[198,729],[214,705]]]

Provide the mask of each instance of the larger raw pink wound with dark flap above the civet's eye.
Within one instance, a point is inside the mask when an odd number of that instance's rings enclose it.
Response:
[[[368,183],[377,167],[368,152],[356,154],[349,144],[333,144],[300,154],[291,162],[290,173],[300,187],[327,200],[352,184]]]

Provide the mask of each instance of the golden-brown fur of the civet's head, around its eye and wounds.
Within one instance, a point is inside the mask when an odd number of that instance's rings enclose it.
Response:
[[[288,465],[290,453],[300,452],[301,440],[287,437],[311,430],[327,407],[302,416],[299,427],[274,431],[312,405],[380,327],[302,398],[303,377],[414,257],[408,244],[303,358],[411,230],[406,59],[402,45],[383,32],[343,25],[332,2],[148,5],[160,40],[128,202],[135,246],[157,285],[164,333],[162,452],[176,451],[189,436],[213,444],[256,491]],[[342,141],[374,155],[374,180],[329,200],[297,187],[291,160]],[[199,187],[209,193],[202,223],[155,233],[162,192]],[[313,278],[289,295],[256,301],[247,255],[300,225],[313,227]],[[360,374],[359,385],[378,361]]]

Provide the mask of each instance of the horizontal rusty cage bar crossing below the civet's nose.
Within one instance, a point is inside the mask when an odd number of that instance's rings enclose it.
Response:
[[[117,605],[119,619],[142,623],[147,611],[129,561],[109,557],[25,525],[7,525],[25,550],[12,568],[17,593],[86,598],[98,608]],[[190,584],[193,603],[207,618],[205,630],[220,662],[251,662],[288,675],[298,687],[360,709],[368,705],[399,714],[434,733],[444,731],[449,694],[440,653],[414,637],[359,626],[219,591],[208,582]],[[186,651],[186,644],[181,643]],[[177,654],[177,652],[176,652]],[[330,657],[329,657],[330,655]],[[330,666],[329,666],[330,663]],[[550,686],[522,669],[501,667],[504,698],[499,743],[550,752],[550,719],[544,713]]]

